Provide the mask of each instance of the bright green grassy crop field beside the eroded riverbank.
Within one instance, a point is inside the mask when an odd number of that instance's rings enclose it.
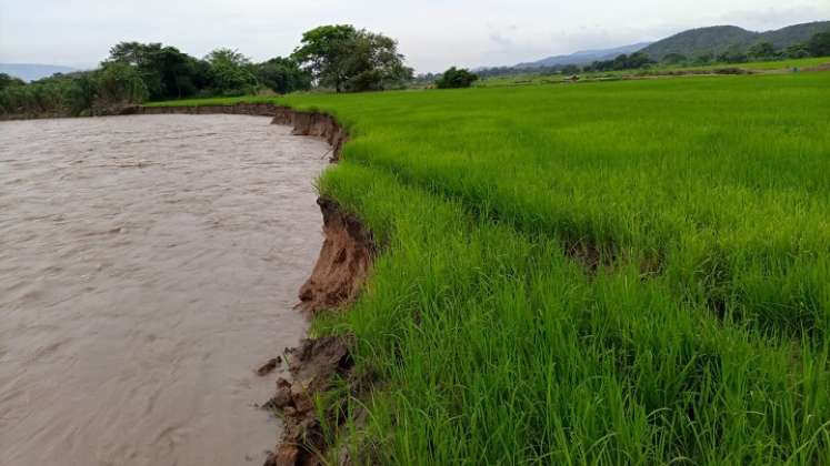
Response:
[[[314,326],[377,375],[356,454],[830,463],[830,73],[278,101],[383,244]]]

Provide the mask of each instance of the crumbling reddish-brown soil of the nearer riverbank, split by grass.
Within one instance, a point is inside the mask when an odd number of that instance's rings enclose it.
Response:
[[[346,213],[333,200],[318,199],[323,215],[324,241],[311,277],[300,288],[302,311],[314,315],[342,308],[358,297],[372,265],[377,247],[371,233],[353,215]],[[353,383],[353,362],[347,338],[324,336],[303,340],[300,346],[287,352],[293,382],[277,381],[277,393],[266,407],[281,412],[284,422],[282,439],[270,455],[267,466],[317,465],[328,447],[322,434],[322,421],[338,423],[340,406],[324,408],[320,419],[313,399],[330,388],[336,381],[344,381],[349,392],[363,389],[364,381]]]

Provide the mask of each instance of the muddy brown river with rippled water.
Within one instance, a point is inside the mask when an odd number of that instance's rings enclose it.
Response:
[[[262,463],[329,149],[269,123],[0,123],[0,465]]]

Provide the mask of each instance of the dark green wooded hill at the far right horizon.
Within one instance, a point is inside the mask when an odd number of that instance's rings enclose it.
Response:
[[[646,47],[642,52],[661,60],[669,53],[697,57],[704,53],[717,55],[730,49],[746,52],[760,42],[771,42],[777,49],[782,49],[807,42],[813,34],[823,31],[830,31],[830,21],[808,22],[767,32],[748,31],[736,26],[714,26],[680,32]]]

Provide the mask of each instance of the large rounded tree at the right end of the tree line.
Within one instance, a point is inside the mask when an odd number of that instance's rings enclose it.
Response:
[[[412,79],[393,39],[350,24],[307,31],[292,58],[318,84],[337,92],[394,89]]]

